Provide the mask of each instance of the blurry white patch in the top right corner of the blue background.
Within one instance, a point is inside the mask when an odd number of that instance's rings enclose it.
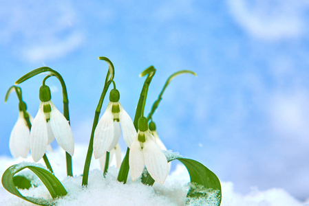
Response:
[[[228,0],[235,21],[255,38],[281,40],[301,36],[308,1]]]

